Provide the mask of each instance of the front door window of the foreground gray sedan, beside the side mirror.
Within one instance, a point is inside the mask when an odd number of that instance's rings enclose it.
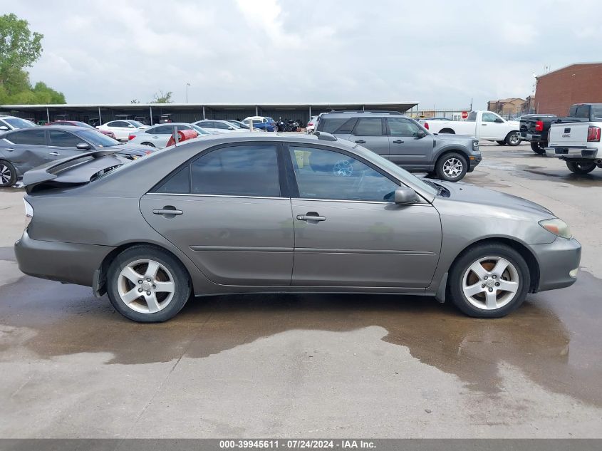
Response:
[[[304,199],[392,201],[398,184],[353,157],[333,150],[289,147]]]

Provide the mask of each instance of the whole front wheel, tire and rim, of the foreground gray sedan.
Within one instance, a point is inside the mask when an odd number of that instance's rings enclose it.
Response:
[[[449,276],[452,302],[477,318],[499,318],[518,309],[529,289],[524,258],[505,244],[482,244],[455,262]]]

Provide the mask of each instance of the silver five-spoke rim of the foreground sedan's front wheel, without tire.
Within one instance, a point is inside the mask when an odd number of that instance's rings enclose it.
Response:
[[[518,290],[519,272],[514,264],[499,256],[474,261],[462,276],[462,291],[477,309],[501,309]]]

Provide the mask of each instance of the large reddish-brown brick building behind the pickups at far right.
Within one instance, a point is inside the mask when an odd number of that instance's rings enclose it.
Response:
[[[566,116],[574,103],[602,103],[602,63],[571,64],[537,77],[537,113]]]

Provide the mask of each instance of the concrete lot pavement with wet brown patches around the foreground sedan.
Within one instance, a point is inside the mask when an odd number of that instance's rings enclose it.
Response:
[[[0,190],[0,437],[602,437],[602,170],[482,145],[465,182],[543,204],[583,244],[569,289],[506,318],[411,296],[249,295],[138,324],[21,274]]]

